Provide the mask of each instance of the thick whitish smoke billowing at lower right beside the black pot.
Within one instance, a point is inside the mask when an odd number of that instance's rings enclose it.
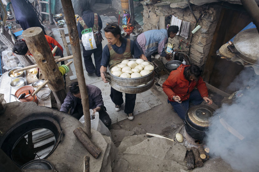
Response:
[[[221,156],[233,169],[243,172],[259,171],[259,89],[243,90],[232,105],[217,109],[206,142],[210,154]],[[245,138],[239,140],[219,122],[219,114]]]

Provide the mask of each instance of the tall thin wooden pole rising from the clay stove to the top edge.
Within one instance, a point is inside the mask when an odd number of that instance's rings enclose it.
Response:
[[[74,57],[74,64],[76,68],[76,77],[81,93],[83,113],[85,117],[85,132],[91,138],[91,119],[89,111],[88,93],[86,90],[86,80],[83,71],[81,49],[79,44],[78,31],[76,27],[75,12],[71,0],[61,0],[64,14],[66,17],[66,24],[68,35],[71,43],[71,49]]]

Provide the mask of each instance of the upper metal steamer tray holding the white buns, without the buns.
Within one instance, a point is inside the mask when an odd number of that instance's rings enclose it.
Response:
[[[137,60],[137,59],[127,59],[127,60]],[[144,60],[145,62],[149,62]],[[110,69],[114,66],[116,66],[117,64],[121,63],[121,61],[114,63],[113,65],[110,66]],[[149,62],[150,63],[150,62]],[[154,65],[152,63],[150,63],[150,65],[152,65],[154,67]],[[109,74],[106,73],[106,79],[109,81],[114,82],[116,85],[120,85],[120,86],[139,86],[141,84],[146,84],[149,81],[152,81],[154,79],[155,76],[155,70],[153,69],[152,72],[150,72],[148,75],[143,76],[143,77],[138,77],[138,78],[121,78],[121,77],[116,77],[114,75],[112,75],[109,71]],[[109,82],[110,82],[109,81]]]

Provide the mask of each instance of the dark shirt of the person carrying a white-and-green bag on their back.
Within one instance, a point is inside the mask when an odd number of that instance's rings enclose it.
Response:
[[[103,23],[102,23],[101,17],[99,16],[99,14],[97,14],[97,15],[98,15],[98,25],[99,25],[100,29],[102,29]],[[82,13],[82,18],[83,18],[84,22],[86,23],[86,26],[88,26],[89,28],[94,26],[95,15],[92,11],[90,11],[90,10],[84,11]],[[78,31],[78,36],[79,36],[80,40],[82,38],[82,34],[81,34],[82,30],[84,30],[84,28],[78,22],[77,31]]]

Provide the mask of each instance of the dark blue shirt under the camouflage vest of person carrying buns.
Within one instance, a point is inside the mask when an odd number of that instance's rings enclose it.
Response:
[[[111,45],[111,47],[113,48],[115,53],[122,54],[125,52],[126,45],[127,45],[127,39],[123,38],[123,41],[120,47],[117,47],[115,44]],[[130,40],[130,53],[133,58],[139,58],[139,56],[141,56],[142,54],[133,40]],[[105,45],[105,47],[103,48],[101,66],[107,67],[109,65],[109,61],[110,61],[110,50],[108,46]]]

